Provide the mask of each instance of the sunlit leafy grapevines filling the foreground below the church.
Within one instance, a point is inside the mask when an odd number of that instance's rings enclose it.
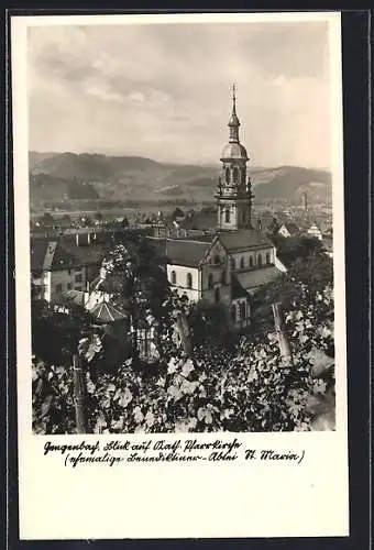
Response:
[[[229,350],[195,345],[184,356],[169,311],[160,324],[161,359],[155,365],[127,361],[117,372],[87,372],[88,430],[95,433],[174,431],[310,430],[312,404],[333,399],[332,290],[301,293],[286,327],[293,364],[282,363],[276,336],[242,338]],[[318,374],[318,373],[317,373]],[[75,430],[70,367],[33,364],[33,429],[38,433]]]

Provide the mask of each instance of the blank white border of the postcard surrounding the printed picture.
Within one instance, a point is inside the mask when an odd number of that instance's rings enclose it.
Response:
[[[306,450],[298,468],[246,463],[67,470],[31,432],[31,319],[26,31],[61,24],[327,21],[330,24],[337,430],[243,433],[251,448]],[[339,12],[15,16],[11,19],[21,539],[328,537],[349,535],[344,200]],[[219,435],[221,440],[230,435]],[[112,439],[100,436],[102,440]],[[209,435],[196,436],[199,440]],[[79,440],[82,439],[79,437]],[[87,436],[85,440],[96,440]],[[117,438],[121,439],[121,438]],[[136,439],[124,436],[122,439]],[[142,437],[138,437],[142,439]],[[143,438],[144,439],[144,438]],[[175,439],[175,436],[153,439]]]

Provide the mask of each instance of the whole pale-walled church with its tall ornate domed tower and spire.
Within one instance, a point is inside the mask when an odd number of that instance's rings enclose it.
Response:
[[[215,195],[216,229],[209,234],[166,239],[166,270],[172,288],[190,300],[221,304],[234,328],[251,322],[256,289],[276,278],[284,266],[270,239],[252,227],[252,185],[249,156],[240,142],[240,121],[233,89],[229,142],[220,161]]]

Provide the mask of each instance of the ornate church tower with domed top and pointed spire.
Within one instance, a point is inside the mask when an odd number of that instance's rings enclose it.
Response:
[[[229,143],[221,154],[221,175],[215,195],[218,207],[218,230],[252,229],[252,186],[246,177],[246,150],[239,140],[235,87],[232,91],[232,113],[229,120]]]

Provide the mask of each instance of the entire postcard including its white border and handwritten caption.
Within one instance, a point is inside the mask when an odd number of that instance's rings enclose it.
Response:
[[[21,538],[345,536],[340,14],[12,23]]]

